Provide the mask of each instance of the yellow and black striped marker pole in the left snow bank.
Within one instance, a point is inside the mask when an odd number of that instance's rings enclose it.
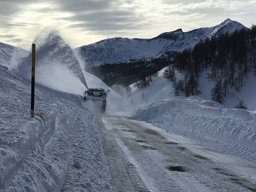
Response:
[[[35,66],[36,66],[36,44],[32,44],[32,70],[31,70],[31,111],[30,117],[34,118],[35,105]]]

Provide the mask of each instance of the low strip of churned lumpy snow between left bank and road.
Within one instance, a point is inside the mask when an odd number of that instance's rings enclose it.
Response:
[[[113,191],[93,115],[79,109],[68,137],[69,167],[61,191]]]

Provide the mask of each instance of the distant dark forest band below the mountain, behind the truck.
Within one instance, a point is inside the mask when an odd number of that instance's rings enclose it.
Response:
[[[170,65],[176,52],[166,52],[159,57],[149,59],[130,60],[125,63],[104,64],[100,66],[88,66],[86,71],[96,75],[108,86],[121,84],[131,85],[139,81],[138,85],[147,86],[156,73]],[[154,75],[153,75],[154,74]]]

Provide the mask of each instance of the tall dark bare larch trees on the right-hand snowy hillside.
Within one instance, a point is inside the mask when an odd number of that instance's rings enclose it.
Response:
[[[208,80],[216,81],[212,88],[212,99],[223,103],[230,88],[240,91],[248,73],[255,67],[256,25],[251,29],[235,30],[218,37],[205,39],[193,49],[177,53],[164,71],[164,77],[173,81],[175,94],[184,92],[185,96],[198,95],[199,76],[204,69],[211,67]],[[176,73],[185,73],[184,79],[176,80]]]

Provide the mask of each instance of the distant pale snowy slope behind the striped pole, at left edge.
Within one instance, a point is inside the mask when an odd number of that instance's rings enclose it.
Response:
[[[21,57],[28,54],[28,51],[12,45],[0,42],[0,65],[13,69]]]

